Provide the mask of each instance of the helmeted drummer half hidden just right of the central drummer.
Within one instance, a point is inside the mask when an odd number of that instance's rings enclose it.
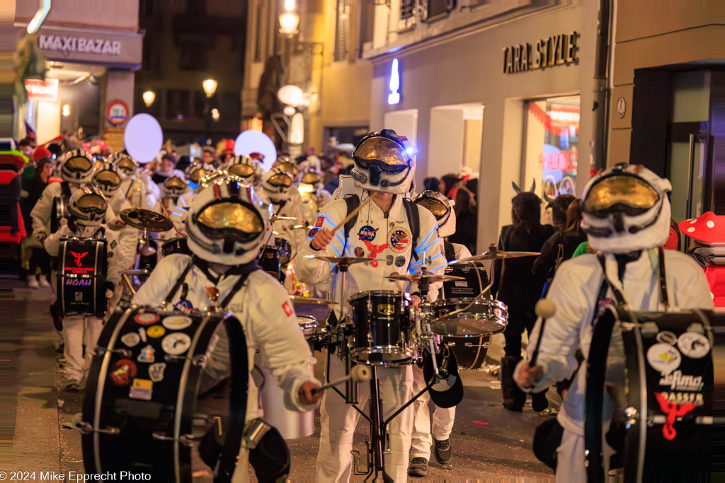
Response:
[[[449,263],[471,256],[465,245],[450,243],[447,238],[455,233],[455,201],[449,200],[438,191],[426,190],[415,196],[413,202],[428,209],[438,222],[438,236],[442,238],[444,254]],[[442,295],[442,293],[441,293]],[[413,366],[413,394],[418,394],[426,387],[423,378],[423,369]],[[428,392],[423,392],[420,398],[413,403],[413,442],[410,449],[410,466],[408,475],[426,476],[428,474],[428,461],[431,459],[431,445],[436,461],[446,464],[451,461],[453,448],[450,443],[450,434],[455,421],[455,406],[452,408],[439,408],[433,411],[433,424],[431,426],[431,413],[428,401],[431,399]]]

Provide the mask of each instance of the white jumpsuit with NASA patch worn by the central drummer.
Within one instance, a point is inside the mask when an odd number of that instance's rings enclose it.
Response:
[[[363,201],[368,193],[363,193]],[[346,297],[365,290],[397,290],[404,291],[403,282],[387,280],[386,276],[397,272],[400,274],[420,271],[423,253],[432,259],[429,269],[442,273],[447,265],[442,254],[442,243],[438,238],[438,225],[430,211],[414,206],[420,214],[420,235],[416,252],[421,260],[414,261],[412,254],[412,235],[407,220],[402,197],[396,196],[389,214],[385,214],[371,202],[357,214],[355,226],[349,232],[347,245],[344,229],[335,233],[334,239],[324,251],[315,251],[309,238],[302,245],[294,262],[295,274],[304,283],[326,282],[332,273],[331,264],[315,259],[306,259],[307,255],[325,254],[327,256],[365,256],[369,263],[350,266],[347,273]],[[347,203],[336,200],[328,203],[315,222],[316,227],[332,230],[347,215]],[[339,274],[334,274],[332,282],[332,300],[340,298],[341,283]],[[347,306],[347,304],[346,304]],[[336,308],[340,316],[340,309]],[[344,376],[344,363],[336,356],[330,356],[329,380]],[[383,417],[390,416],[400,406],[410,400],[413,390],[413,370],[411,366],[382,367],[378,369],[380,394],[383,400]],[[370,386],[360,385],[360,407],[365,406]],[[403,411],[389,425],[390,446],[392,453],[385,455],[386,473],[397,482],[407,479],[408,453],[410,451],[410,434],[413,430],[412,408]],[[343,398],[334,392],[326,392],[320,409],[320,453],[318,455],[317,479],[320,482],[347,482],[350,479],[352,461],[352,435],[359,414],[352,406],[347,405]]]

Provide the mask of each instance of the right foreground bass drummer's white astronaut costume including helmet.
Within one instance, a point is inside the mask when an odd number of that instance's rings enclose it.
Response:
[[[605,256],[610,282],[624,294],[629,308],[635,311],[663,311],[658,281],[658,246],[666,242],[670,227],[670,182],[642,166],[624,164],[594,177],[584,188],[582,227],[589,236],[589,246]],[[689,256],[665,250],[666,287],[675,309],[713,308],[713,301],[702,269]],[[594,253],[564,261],[555,274],[547,298],[556,306],[555,315],[544,326],[536,379],[521,376],[518,363],[514,379],[522,390],[541,392],[549,385],[572,377],[578,366],[574,353],[581,348],[589,356],[592,320],[602,285],[602,266]],[[608,288],[607,298],[613,298]],[[529,358],[537,345],[541,319],[531,333]],[[613,352],[612,352],[613,351]],[[621,329],[615,328],[610,353],[624,364]],[[586,367],[584,361],[582,366]],[[611,367],[608,368],[610,373]],[[623,368],[618,368],[624,371]],[[624,374],[623,374],[624,375]],[[566,393],[558,413],[563,437],[557,449],[558,482],[586,481],[584,467],[584,389],[587,371],[579,369]],[[533,387],[528,386],[533,385]],[[605,392],[604,420],[611,419],[613,400]]]

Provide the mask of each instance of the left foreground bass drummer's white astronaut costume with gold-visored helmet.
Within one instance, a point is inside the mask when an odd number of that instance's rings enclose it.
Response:
[[[204,188],[194,198],[186,232],[196,261],[170,304],[185,310],[203,309],[213,306],[216,300],[224,300],[239,280],[240,270],[254,263],[265,235],[265,213],[249,187],[236,181],[220,181]],[[190,256],[177,254],[159,261],[149,280],[133,297],[133,303],[159,306],[191,260]],[[208,288],[215,288],[218,296],[210,295]],[[298,395],[299,387],[305,382],[318,384],[308,366],[315,364],[315,358],[279,282],[262,270],[252,272],[233,295],[227,309],[244,327],[249,367],[254,366],[255,350],[260,350],[262,361],[285,390],[285,406],[300,412],[315,408],[316,405],[303,404]],[[225,345],[225,337],[221,337],[217,348],[223,349]],[[221,353],[219,356],[215,350],[204,369],[215,379],[222,379],[228,372],[224,350]],[[262,416],[257,400],[257,387],[249,377],[247,419]],[[241,448],[233,482],[249,480],[248,461],[247,448]]]

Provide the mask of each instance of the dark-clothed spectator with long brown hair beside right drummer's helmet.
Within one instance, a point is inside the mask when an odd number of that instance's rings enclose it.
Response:
[[[570,195],[566,195],[570,196]],[[559,197],[561,198],[561,196]],[[556,198],[557,200],[559,198]],[[552,235],[542,246],[542,254],[534,260],[534,274],[539,277],[553,277],[559,258],[559,246],[561,246],[561,259],[568,260],[573,256],[576,247],[587,241],[587,234],[579,227],[581,222],[581,203],[578,199],[568,206],[566,211],[566,227]]]

